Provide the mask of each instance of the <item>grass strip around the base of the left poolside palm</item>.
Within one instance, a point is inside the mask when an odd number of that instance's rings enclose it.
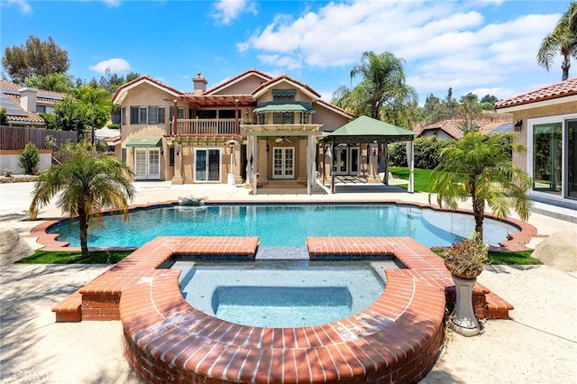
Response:
[[[21,264],[115,264],[133,251],[89,251],[82,259],[80,251],[35,251],[32,256],[16,261]]]

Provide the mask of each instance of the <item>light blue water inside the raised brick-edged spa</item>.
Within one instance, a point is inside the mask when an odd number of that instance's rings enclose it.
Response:
[[[383,292],[394,261],[176,261],[191,306],[239,325],[323,325],[361,312]]]

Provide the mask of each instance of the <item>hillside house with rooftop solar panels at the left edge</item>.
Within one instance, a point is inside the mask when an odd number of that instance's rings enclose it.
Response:
[[[32,87],[23,87],[7,80],[0,80],[0,108],[6,108],[8,125],[24,127],[43,127],[40,114],[54,112],[54,104],[66,94],[45,91]]]

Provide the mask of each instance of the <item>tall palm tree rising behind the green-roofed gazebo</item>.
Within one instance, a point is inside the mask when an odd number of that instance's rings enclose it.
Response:
[[[366,51],[362,53],[361,63],[351,70],[351,78],[362,77],[352,95],[361,97],[362,103],[369,105],[372,118],[380,120],[382,105],[417,100],[415,88],[405,83],[404,62],[390,52]]]

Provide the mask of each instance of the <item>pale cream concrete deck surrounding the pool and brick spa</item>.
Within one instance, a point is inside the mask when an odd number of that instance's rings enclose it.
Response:
[[[25,183],[28,184],[28,183]],[[16,185],[14,185],[16,186]],[[26,188],[28,187],[28,189]],[[170,186],[136,183],[134,203],[149,204],[180,196],[216,200],[251,199],[243,187]],[[395,187],[337,188],[336,195],[307,195],[293,190],[259,194],[270,201],[402,200],[426,204],[426,194],[407,194]],[[30,186],[0,186],[3,226],[23,235],[38,222],[21,221]],[[463,205],[468,208],[468,206]],[[40,217],[59,217],[53,206]],[[539,234],[577,232],[577,224],[532,215]],[[28,239],[32,241],[33,239]],[[541,238],[533,239],[535,245]],[[119,322],[56,324],[51,306],[107,270],[106,266],[26,266],[1,269],[2,382],[139,382],[124,359]],[[423,382],[572,382],[577,376],[577,275],[546,266],[488,267],[480,282],[507,299],[513,320],[485,323],[474,338],[449,334],[443,355]],[[512,358],[515,356],[516,358]]]

